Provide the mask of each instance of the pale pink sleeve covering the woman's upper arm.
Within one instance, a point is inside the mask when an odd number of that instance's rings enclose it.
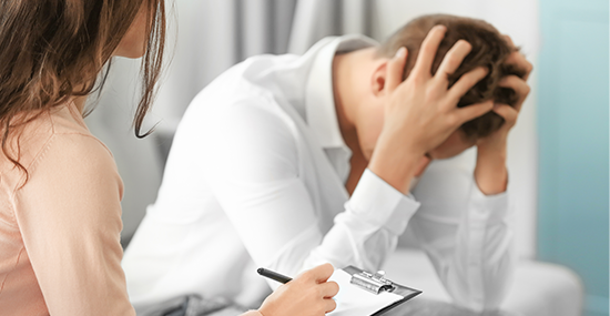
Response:
[[[16,191],[18,224],[51,315],[135,315],[121,268],[122,190],[96,139],[55,134]]]

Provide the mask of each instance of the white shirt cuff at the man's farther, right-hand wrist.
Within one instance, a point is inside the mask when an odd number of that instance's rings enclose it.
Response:
[[[509,191],[485,195],[474,181],[472,193],[470,195],[470,220],[480,226],[492,225],[504,222],[508,216]]]

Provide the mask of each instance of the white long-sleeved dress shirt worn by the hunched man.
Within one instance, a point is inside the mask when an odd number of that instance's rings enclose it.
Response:
[[[277,286],[257,267],[377,271],[407,225],[457,304],[499,305],[511,267],[506,193],[485,196],[470,172],[444,162],[409,196],[368,170],[352,196],[344,187],[352,153],[335,113],[333,58],[376,44],[347,35],[303,57],[251,58],[193,100],[123,259],[136,307],[193,293],[256,304]]]

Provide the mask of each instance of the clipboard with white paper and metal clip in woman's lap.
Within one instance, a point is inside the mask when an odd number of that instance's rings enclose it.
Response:
[[[384,272],[369,273],[355,266],[336,269],[329,281],[337,282],[337,308],[328,316],[379,316],[421,294],[385,277]]]

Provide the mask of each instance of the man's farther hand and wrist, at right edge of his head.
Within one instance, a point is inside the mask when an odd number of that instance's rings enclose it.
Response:
[[[506,37],[506,39],[514,47],[510,38]],[[486,195],[506,191],[508,184],[508,172],[506,169],[508,133],[517,123],[521,106],[530,91],[529,84],[526,81],[533,67],[526,60],[525,55],[515,50],[506,63],[522,70],[525,75],[520,78],[511,74],[501,80],[500,86],[512,89],[517,94],[517,102],[512,106],[502,103],[494,104],[492,111],[505,119],[505,124],[498,131],[477,142],[478,154],[475,180],[479,190]]]

